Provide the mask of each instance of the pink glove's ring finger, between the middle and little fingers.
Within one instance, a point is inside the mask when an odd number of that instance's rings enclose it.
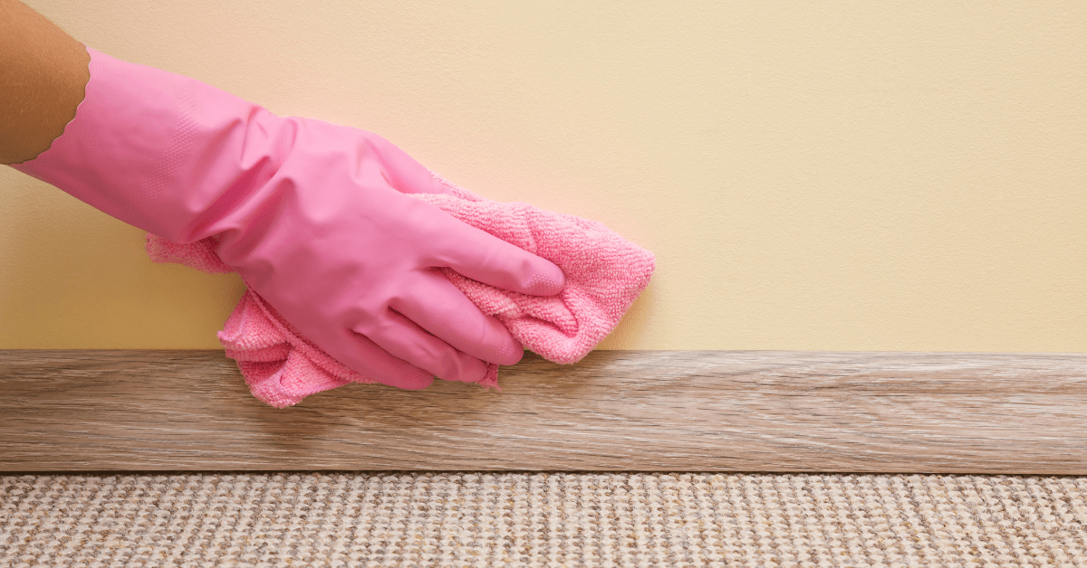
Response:
[[[395,310],[354,330],[370,338],[390,355],[426,369],[445,380],[477,382],[487,374],[487,364],[430,335]]]

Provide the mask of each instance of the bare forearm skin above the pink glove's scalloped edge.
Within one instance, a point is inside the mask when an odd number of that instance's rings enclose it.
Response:
[[[17,0],[0,0],[0,163],[49,149],[90,79],[83,43]]]

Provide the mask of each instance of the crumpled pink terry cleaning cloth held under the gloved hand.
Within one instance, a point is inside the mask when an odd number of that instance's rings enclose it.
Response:
[[[449,193],[407,193],[562,268],[566,286],[535,296],[495,288],[441,268],[479,310],[497,317],[528,350],[561,364],[576,363],[615,328],[649,285],[653,254],[605,227],[527,203],[491,201],[432,174]],[[158,263],[179,263],[207,273],[233,268],[215,254],[216,236],[177,244],[148,233],[147,252]],[[301,337],[252,290],[238,301],[217,333],[249,390],[277,408],[349,382],[375,382]],[[498,365],[488,364],[483,387],[498,388]]]

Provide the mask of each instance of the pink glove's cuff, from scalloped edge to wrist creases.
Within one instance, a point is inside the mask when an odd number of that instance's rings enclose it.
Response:
[[[275,174],[291,123],[197,79],[87,52],[75,118],[12,167],[172,242],[233,228],[216,222]]]

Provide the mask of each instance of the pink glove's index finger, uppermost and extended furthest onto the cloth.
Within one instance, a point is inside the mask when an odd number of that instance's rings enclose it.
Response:
[[[532,295],[554,295],[566,277],[554,263],[451,215],[436,218],[445,238],[435,239],[435,266],[448,266],[480,282]]]

